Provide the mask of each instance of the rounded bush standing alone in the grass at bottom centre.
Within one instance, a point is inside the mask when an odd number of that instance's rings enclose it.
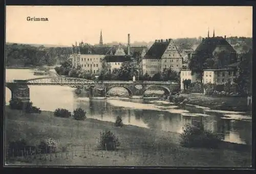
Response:
[[[99,147],[102,150],[116,150],[120,146],[120,142],[115,134],[109,130],[100,133]]]

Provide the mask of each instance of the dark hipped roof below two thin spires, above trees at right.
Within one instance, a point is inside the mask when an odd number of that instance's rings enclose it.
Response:
[[[201,42],[201,44],[195,50],[195,54],[197,53],[207,53],[212,54],[217,46],[226,46],[229,52],[236,53],[233,47],[227,42],[227,40],[223,37],[206,37]]]

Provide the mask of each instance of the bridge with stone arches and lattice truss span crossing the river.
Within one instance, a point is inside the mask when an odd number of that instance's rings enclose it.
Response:
[[[93,81],[71,77],[41,77],[27,80],[6,81],[6,87],[11,91],[12,99],[24,102],[30,101],[29,85],[68,85],[77,89],[89,90],[90,98],[106,98],[110,89],[123,87],[131,98],[143,98],[148,89],[161,88],[165,94],[179,89],[179,84],[173,81]]]

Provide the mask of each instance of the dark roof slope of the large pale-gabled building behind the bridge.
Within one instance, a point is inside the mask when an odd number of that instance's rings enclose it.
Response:
[[[168,47],[170,41],[154,42],[151,48],[146,52],[144,59],[161,59],[164,51]]]

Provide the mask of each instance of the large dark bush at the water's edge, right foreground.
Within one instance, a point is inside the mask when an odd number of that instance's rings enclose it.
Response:
[[[204,130],[202,124],[192,126],[186,124],[184,132],[180,136],[180,143],[185,147],[205,147],[205,148],[217,148],[220,142],[220,138]]]

